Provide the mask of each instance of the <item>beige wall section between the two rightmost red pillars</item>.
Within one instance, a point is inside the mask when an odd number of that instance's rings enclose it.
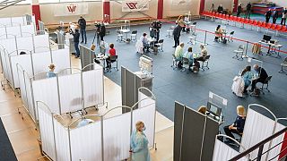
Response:
[[[188,4],[178,4],[179,0],[163,0],[163,17],[178,16],[190,12],[199,14],[200,0],[186,0]]]

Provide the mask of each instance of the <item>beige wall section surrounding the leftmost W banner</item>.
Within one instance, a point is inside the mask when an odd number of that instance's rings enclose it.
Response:
[[[89,14],[83,15],[86,21],[102,20],[102,3],[89,2]],[[54,9],[57,9],[57,4],[40,4],[41,20],[45,24],[58,24],[60,21],[68,23],[70,21],[78,21],[80,15],[76,16],[54,16]]]

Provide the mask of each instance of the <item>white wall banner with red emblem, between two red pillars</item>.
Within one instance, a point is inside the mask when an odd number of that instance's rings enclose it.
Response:
[[[149,10],[149,0],[124,0],[122,12],[139,12]]]

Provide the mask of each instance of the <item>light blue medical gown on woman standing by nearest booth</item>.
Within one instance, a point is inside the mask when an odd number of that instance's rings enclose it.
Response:
[[[150,161],[149,141],[143,132],[133,131],[131,136],[131,148],[133,161]]]

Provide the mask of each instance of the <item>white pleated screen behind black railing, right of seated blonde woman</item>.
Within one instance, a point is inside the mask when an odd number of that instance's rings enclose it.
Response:
[[[252,108],[248,108],[248,114],[244,125],[243,136],[241,139],[241,145],[244,148],[251,148],[258,142],[265,140],[267,137],[273,134],[274,120],[266,117],[263,114],[257,113]],[[263,151],[268,149],[269,144],[266,144]],[[240,148],[240,152],[244,151]],[[250,158],[256,158],[258,149],[250,153]],[[265,160],[266,155],[262,156]]]

